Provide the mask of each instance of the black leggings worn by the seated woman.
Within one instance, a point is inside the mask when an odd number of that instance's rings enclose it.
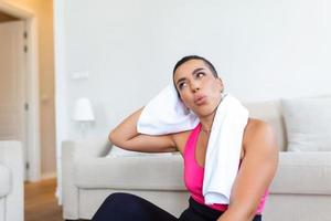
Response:
[[[175,218],[153,203],[130,193],[113,193],[94,214],[93,221],[216,221],[223,212],[190,198],[189,208]],[[257,214],[253,221],[261,221]]]

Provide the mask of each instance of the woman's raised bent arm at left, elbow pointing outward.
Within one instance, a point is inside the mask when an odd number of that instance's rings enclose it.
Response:
[[[175,143],[171,135],[150,136],[137,131],[137,122],[142,108],[128,116],[122,123],[115,127],[108,136],[109,140],[120,148],[134,151],[177,151]]]

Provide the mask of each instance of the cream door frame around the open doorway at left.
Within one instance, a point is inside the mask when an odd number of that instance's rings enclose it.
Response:
[[[24,22],[28,33],[28,52],[25,64],[26,103],[29,110],[25,116],[26,129],[26,159],[29,169],[28,181],[41,179],[41,148],[40,148],[40,102],[39,102],[39,51],[38,51],[38,20],[33,12],[23,9],[14,3],[0,0],[0,11],[19,18]],[[23,38],[23,36],[22,36]]]

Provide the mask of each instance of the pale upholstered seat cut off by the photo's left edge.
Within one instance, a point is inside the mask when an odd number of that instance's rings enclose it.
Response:
[[[0,140],[0,221],[23,221],[23,156],[19,141]]]

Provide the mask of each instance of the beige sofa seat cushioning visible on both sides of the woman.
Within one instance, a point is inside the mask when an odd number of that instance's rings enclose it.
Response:
[[[330,194],[330,159],[331,152],[279,152],[270,192]],[[73,176],[75,186],[84,189],[186,190],[180,155],[82,160]]]

